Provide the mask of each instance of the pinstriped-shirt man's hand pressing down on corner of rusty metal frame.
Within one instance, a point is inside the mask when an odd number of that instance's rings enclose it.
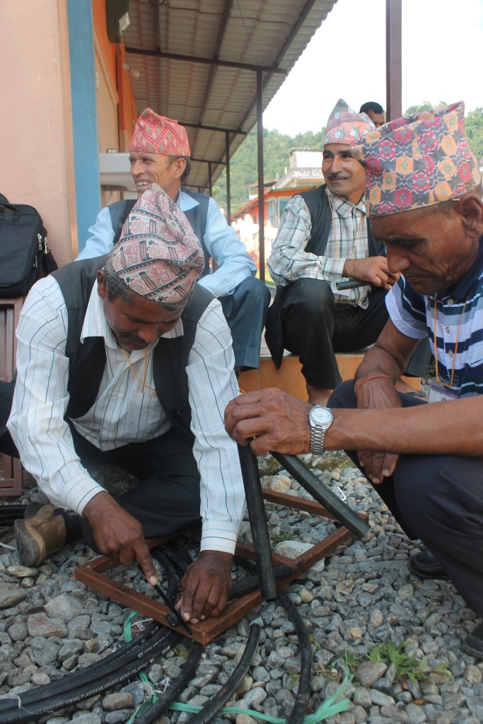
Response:
[[[183,621],[198,623],[223,613],[232,589],[232,560],[231,553],[203,550],[191,563],[182,578],[176,604]]]

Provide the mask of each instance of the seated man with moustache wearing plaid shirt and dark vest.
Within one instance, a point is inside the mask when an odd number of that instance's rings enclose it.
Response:
[[[325,183],[287,203],[268,260],[277,295],[266,321],[266,343],[277,368],[284,348],[299,356],[308,401],[318,405],[325,405],[341,382],[335,353],[377,340],[387,321],[387,290],[399,277],[390,274],[384,244],[371,235],[364,169],[349,148],[370,130],[374,125],[365,113],[337,101],[324,138]],[[348,278],[363,284],[339,289]],[[410,371],[420,375],[421,366]],[[408,386],[400,384],[406,391]]]

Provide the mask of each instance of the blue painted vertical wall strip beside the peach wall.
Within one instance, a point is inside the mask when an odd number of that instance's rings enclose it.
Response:
[[[101,208],[91,0],[67,0],[79,251]]]

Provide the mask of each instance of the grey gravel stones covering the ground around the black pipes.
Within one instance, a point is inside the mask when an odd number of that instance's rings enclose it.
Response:
[[[314,673],[307,714],[335,694],[348,661],[355,675],[340,694],[349,710],[327,724],[476,724],[483,722],[483,662],[463,654],[461,638],[476,615],[465,607],[449,581],[419,581],[407,568],[415,544],[409,542],[361,473],[343,455],[306,456],[314,473],[358,512],[369,513],[371,532],[314,565],[287,593],[306,622]],[[269,456],[261,458],[263,484],[272,490],[309,497]],[[25,500],[35,497],[35,489]],[[7,501],[8,503],[9,501]],[[290,557],[308,550],[335,530],[319,515],[266,504],[274,550]],[[248,521],[242,533],[250,539]],[[5,542],[12,542],[7,533]],[[83,542],[67,545],[39,568],[19,564],[16,552],[0,552],[0,696],[28,691],[82,670],[111,654],[123,640],[130,613],[103,594],[75,581],[75,567],[94,554]],[[317,568],[318,567],[318,568]],[[134,569],[119,581],[143,589]],[[143,589],[144,590],[144,589]],[[235,724],[253,724],[253,712],[286,718],[300,678],[300,651],[293,623],[277,600],[269,601],[211,642],[196,674],[177,696],[198,705],[209,701],[240,660],[250,623],[259,620],[261,636],[251,668],[230,704],[246,713]],[[449,675],[410,681],[388,661],[367,660],[374,646],[406,643],[404,652],[428,668],[448,666]],[[54,712],[46,724],[123,724],[154,692],[182,672],[188,650],[175,650],[148,665],[148,683],[135,676],[108,691]],[[188,723],[187,712],[168,711],[161,724]]]

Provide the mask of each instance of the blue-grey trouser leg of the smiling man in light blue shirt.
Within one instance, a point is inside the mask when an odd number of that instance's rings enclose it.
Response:
[[[258,369],[261,334],[270,303],[270,290],[256,277],[243,279],[232,294],[219,297],[232,333],[235,367]]]

